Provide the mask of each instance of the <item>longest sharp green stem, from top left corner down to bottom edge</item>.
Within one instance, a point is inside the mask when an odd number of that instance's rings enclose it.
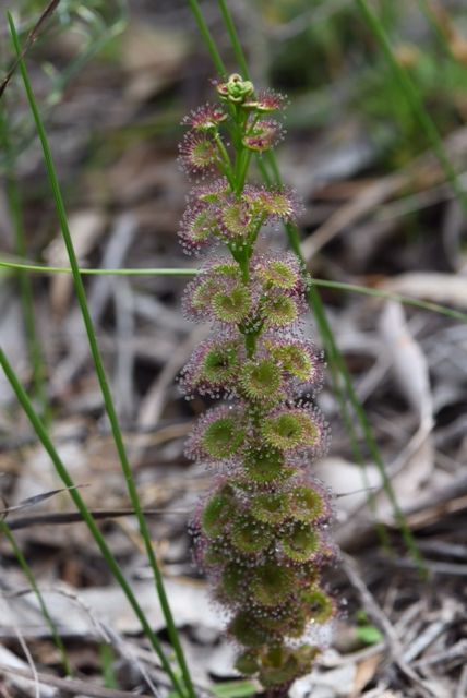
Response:
[[[19,43],[19,38],[17,38],[17,34],[15,31],[15,26],[14,26],[14,22],[12,19],[12,15],[9,14],[9,24],[10,24],[10,32],[13,38],[13,43],[14,43],[14,48],[16,51],[16,55],[20,56],[21,55],[21,47],[20,47],[20,43]],[[47,134],[45,132],[44,129],[44,124],[39,115],[39,110],[36,104],[36,99],[34,96],[34,92],[31,85],[31,81],[27,74],[27,70],[25,67],[25,62],[24,60],[22,60],[20,62],[20,70],[21,70],[21,75],[23,79],[23,83],[24,83],[24,87],[25,87],[25,92],[27,95],[27,99],[29,103],[29,107],[31,107],[31,111],[33,113],[34,117],[34,121],[36,124],[36,129],[37,129],[37,133],[43,146],[43,152],[44,152],[44,159],[46,163],[46,168],[47,168],[47,173],[48,173],[48,178],[49,178],[49,182],[50,182],[50,188],[52,190],[52,194],[53,194],[53,201],[56,204],[56,209],[57,209],[57,215],[59,218],[59,222],[60,222],[60,228],[61,228],[61,232],[62,232],[62,237],[63,237],[63,241],[67,248],[67,253],[70,260],[70,267],[72,269],[72,275],[73,275],[73,284],[74,284],[74,289],[76,292],[76,298],[77,298],[77,302],[81,309],[81,313],[83,316],[83,321],[84,321],[84,325],[86,328],[86,333],[87,333],[87,338],[89,341],[89,347],[91,347],[91,353],[93,356],[93,361],[94,361],[94,365],[95,365],[95,370],[96,370],[96,374],[99,381],[99,385],[100,385],[100,390],[103,393],[103,397],[104,397],[104,402],[106,406],[106,412],[110,422],[110,426],[111,426],[111,432],[112,432],[112,436],[113,436],[113,441],[116,444],[116,448],[119,455],[119,459],[120,459],[120,464],[121,464],[121,468],[124,474],[124,480],[127,483],[127,488],[128,488],[128,492],[129,492],[129,496],[131,500],[131,504],[134,508],[135,515],[136,515],[136,519],[137,519],[137,524],[140,527],[140,531],[141,531],[141,535],[142,539],[144,541],[144,546],[146,550],[146,555],[147,555],[147,559],[149,562],[149,565],[152,567],[153,570],[153,575],[154,575],[154,580],[155,580],[155,586],[156,586],[156,591],[157,591],[157,595],[159,598],[159,602],[160,602],[160,606],[164,613],[164,617],[166,619],[166,624],[167,624],[167,631],[170,638],[170,641],[172,643],[173,647],[173,651],[176,653],[177,657],[177,661],[179,663],[180,670],[182,672],[183,675],[183,682],[185,684],[187,687],[187,695],[190,696],[190,698],[194,698],[195,693],[194,693],[194,687],[192,684],[192,679],[190,676],[190,672],[187,665],[187,661],[184,659],[184,654],[183,654],[183,650],[180,643],[180,638],[178,636],[178,630],[177,627],[175,625],[173,622],[173,617],[170,611],[170,606],[169,606],[169,602],[167,599],[167,594],[164,588],[164,580],[163,580],[163,576],[160,573],[160,569],[158,567],[157,564],[157,559],[153,550],[153,545],[152,545],[152,541],[151,541],[151,534],[149,534],[149,529],[146,522],[146,519],[144,517],[144,513],[143,513],[143,508],[140,502],[140,496],[137,493],[137,488],[133,478],[133,473],[131,470],[131,466],[127,456],[127,449],[124,447],[124,443],[123,443],[123,437],[122,437],[122,433],[120,430],[120,425],[119,425],[119,421],[118,421],[118,417],[117,417],[117,411],[113,405],[113,399],[111,396],[111,392],[110,392],[110,387],[108,385],[107,382],[107,376],[106,376],[106,372],[104,369],[104,363],[101,360],[101,356],[100,356],[100,350],[97,344],[97,338],[96,338],[96,334],[94,332],[94,326],[93,326],[93,321],[91,318],[91,313],[87,306],[87,301],[86,301],[86,293],[84,290],[84,285],[83,285],[83,279],[81,277],[80,274],[80,268],[79,268],[79,264],[77,264],[77,258],[76,258],[76,254],[74,251],[74,246],[73,246],[73,241],[71,239],[71,233],[70,233],[70,229],[69,229],[69,225],[68,225],[68,217],[67,217],[67,212],[65,212],[65,207],[64,207],[64,203],[63,203],[63,198],[62,198],[62,194],[61,194],[61,190],[60,190],[60,184],[58,181],[58,177],[57,177],[57,172],[55,169],[55,165],[53,165],[53,159],[52,159],[52,154],[50,151],[50,146],[48,143],[48,139],[47,139]],[[173,678],[172,678],[173,681]],[[177,687],[180,690],[180,686],[177,683]],[[180,695],[183,695],[183,691],[180,690]]]

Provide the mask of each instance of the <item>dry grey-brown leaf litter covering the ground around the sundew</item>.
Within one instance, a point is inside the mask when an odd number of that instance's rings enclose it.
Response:
[[[239,3],[238,21],[247,22],[249,12],[258,10]],[[86,266],[185,265],[176,231],[187,189],[173,167],[177,134],[167,124],[173,123],[175,113],[176,120],[182,115],[187,99],[194,95],[193,103],[197,101],[211,68],[196,51],[183,10],[177,14],[170,3],[161,3],[152,13],[154,10],[134,10],[121,62],[97,60],[94,76],[83,73],[76,82],[68,109],[63,103],[62,120],[59,106],[50,121],[55,144],[64,140],[74,121],[82,123],[82,133],[71,139],[59,160],[64,185],[73,188],[73,230],[81,263]],[[163,22],[157,28],[149,26],[155,19]],[[157,56],[153,53],[155,44]],[[144,51],[139,55],[140,46]],[[34,50],[28,48],[31,55]],[[37,50],[47,57],[47,45],[39,44]],[[196,73],[193,60],[200,61]],[[38,79],[39,62],[33,70]],[[325,142],[336,142],[338,129],[338,123],[330,123],[323,133]],[[99,161],[97,168],[85,156],[93,139],[103,144],[100,152],[107,148],[104,165]],[[297,133],[280,155],[295,172],[295,184],[309,205],[304,251],[312,257],[313,274],[465,309],[467,293],[458,256],[465,222],[450,214],[448,196],[435,196],[443,179],[431,156],[423,154],[387,174],[378,170],[378,148],[360,147],[344,157],[344,152],[323,148],[323,142],[311,132],[307,137]],[[465,129],[447,136],[446,148],[465,164]],[[318,161],[318,156],[322,169],[311,178],[308,164]],[[375,169],[369,177],[367,168],[373,160]],[[85,167],[79,167],[83,161]],[[297,163],[300,167],[294,169]],[[22,157],[19,177],[27,192],[33,179],[41,177],[37,158],[26,163]],[[411,210],[420,212],[431,231],[426,242],[404,240],[407,213],[400,212],[400,204],[407,188],[415,196],[409,202]],[[430,206],[423,208],[427,192]],[[408,203],[405,205],[407,208]],[[439,218],[444,218],[444,241],[436,237]],[[40,260],[44,255],[52,263],[48,251],[53,249],[56,224],[49,207],[43,205],[37,218],[35,197],[26,194],[25,220],[29,256]],[[2,240],[5,252],[11,252],[10,240],[7,231]],[[108,510],[108,516],[103,513],[101,524],[107,540],[153,627],[164,638],[134,517],[117,514],[128,509],[128,501],[69,277],[44,277],[34,284],[55,440],[79,486],[86,485],[89,507]],[[190,404],[182,400],[173,382],[193,341],[191,327],[179,310],[183,281],[96,278],[87,279],[86,285],[143,505],[154,510],[149,526],[169,599],[196,681],[207,690],[213,681],[235,676],[231,647],[220,633],[223,618],[206,601],[203,580],[191,563],[185,531],[209,473],[188,465],[183,457],[184,436],[193,417],[204,408],[199,398]],[[27,381],[21,311],[12,300],[12,279],[0,287],[0,303],[5,309],[1,344],[8,346]],[[332,289],[324,290],[323,298],[395,494],[424,555],[429,578],[420,578],[404,549],[378,469],[364,450],[362,480],[339,407],[326,386],[322,408],[332,423],[334,441],[331,453],[318,464],[316,474],[342,495],[335,502],[334,534],[351,559],[344,557],[330,580],[346,600],[330,648],[319,667],[297,682],[290,696],[462,698],[467,689],[463,669],[467,655],[463,612],[467,575],[463,533],[467,513],[463,466],[467,460],[466,328],[422,310]],[[50,308],[55,313],[50,314]],[[314,327],[310,332],[315,336]],[[56,492],[59,483],[48,459],[3,386],[1,404],[0,494],[7,503],[7,521],[14,530],[15,520],[25,516],[25,506],[34,506],[37,517],[74,514],[69,495]],[[378,520],[390,532],[391,554],[379,544],[374,515],[367,507],[369,491],[376,501]],[[118,657],[121,691],[155,695],[152,683],[166,696],[167,682],[84,527],[75,520],[53,526],[33,518],[32,525],[17,527],[15,534],[59,630],[73,650],[80,678],[73,689],[70,687],[71,693],[97,698],[108,695],[103,693],[97,660],[89,660],[98,655],[99,642],[107,641]],[[46,697],[58,695],[64,679],[60,679],[59,662],[50,649],[50,631],[4,538],[0,556],[2,604],[9,610],[0,621],[1,682],[15,697],[35,696],[38,687]],[[368,627],[378,629],[383,640],[362,642],[357,631],[361,610]],[[370,633],[367,637],[379,636]],[[39,657],[48,659],[34,659]],[[59,683],[53,685],[52,678]],[[246,690],[248,694],[251,687]]]

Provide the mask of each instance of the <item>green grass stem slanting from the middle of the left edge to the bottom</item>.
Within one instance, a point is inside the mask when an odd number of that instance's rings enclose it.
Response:
[[[155,652],[157,653],[164,670],[166,671],[167,675],[170,677],[173,684],[173,687],[179,693],[179,696],[183,696],[184,694],[180,686],[180,682],[178,677],[175,675],[173,670],[170,666],[168,659],[166,658],[166,654],[163,650],[159,639],[154,634],[151,625],[148,624],[146,616],[142,607],[140,606],[136,600],[136,597],[131,588],[131,585],[127,581],[118,562],[116,561],[116,558],[113,557],[113,554],[111,553],[109,546],[107,545],[106,540],[101,534],[100,529],[98,528],[93,515],[88,510],[86,504],[84,503],[84,500],[81,497],[76,489],[76,485],[70,472],[68,471],[67,466],[64,465],[56,447],[53,446],[46,425],[44,424],[43,420],[39,418],[36,410],[34,409],[33,404],[31,402],[22,384],[20,383],[20,380],[16,376],[14,369],[10,364],[4,351],[1,348],[0,348],[0,365],[2,366],[11,387],[13,388],[13,392],[16,395],[17,401],[20,402],[26,417],[28,418],[31,424],[33,425],[33,429],[36,432],[40,443],[43,444],[44,448],[48,453],[59,478],[61,479],[63,484],[68,488],[71,498],[73,500],[77,510],[83,517],[83,521],[87,525],[87,528],[89,529],[94,540],[96,541],[100,550],[100,553],[103,554],[103,557],[106,561],[111,574],[113,575],[115,579],[119,583],[131,607],[133,609],[137,619],[140,621],[143,631],[147,637],[148,641],[151,642],[151,645],[153,646]]]

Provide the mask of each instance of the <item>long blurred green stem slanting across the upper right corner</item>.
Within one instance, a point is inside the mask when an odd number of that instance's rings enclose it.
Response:
[[[435,127],[434,121],[431,119],[430,115],[423,106],[423,101],[420,97],[419,91],[417,89],[408,72],[397,61],[387,34],[379,16],[370,8],[367,0],[356,0],[356,3],[371,32],[373,33],[373,36],[376,39],[382,52],[384,53],[384,57],[393,72],[394,79],[400,89],[400,94],[404,96],[408,106],[410,107],[414,117],[419,123],[420,129],[424,132],[427,141],[433,148],[433,152],[442,169],[444,170],[446,179],[448,180],[448,182],[451,182],[451,186],[453,188],[453,191],[459,204],[467,213],[467,195],[460,185],[457,172],[444,148],[438,128]]]

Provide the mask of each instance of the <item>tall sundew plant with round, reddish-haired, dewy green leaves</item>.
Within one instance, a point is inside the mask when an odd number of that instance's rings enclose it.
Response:
[[[323,363],[303,333],[308,275],[267,239],[275,224],[295,219],[299,202],[290,190],[248,182],[252,155],[283,137],[271,115],[284,98],[256,93],[238,74],[215,87],[218,103],[184,119],[180,146],[183,168],[201,180],[180,241],[207,257],[183,308],[212,323],[180,385],[187,396],[223,400],[199,419],[187,446],[214,471],[192,526],[195,558],[226,614],[237,670],[280,696],[310,671],[319,626],[335,614],[321,579],[336,555],[326,534],[330,495],[309,472],[327,442],[313,404]]]

